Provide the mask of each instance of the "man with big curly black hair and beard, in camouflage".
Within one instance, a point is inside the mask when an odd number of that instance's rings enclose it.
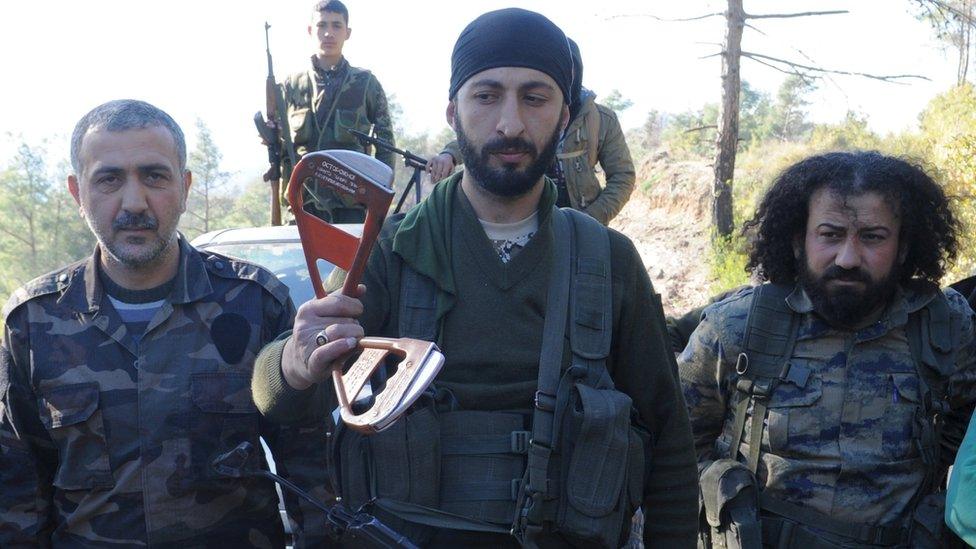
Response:
[[[976,402],[974,314],[940,291],[959,225],[918,166],[830,153],[746,224],[765,281],[678,359],[709,547],[935,547]]]

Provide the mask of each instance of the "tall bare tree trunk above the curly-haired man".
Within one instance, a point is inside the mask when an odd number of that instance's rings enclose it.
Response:
[[[742,0],[728,0],[725,13],[725,46],[722,51],[722,102],[718,111],[718,153],[715,157],[712,220],[721,236],[732,234],[732,174],[739,141],[739,57],[742,55],[742,28],[745,11]]]

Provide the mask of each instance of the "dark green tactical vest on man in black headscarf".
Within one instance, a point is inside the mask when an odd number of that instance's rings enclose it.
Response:
[[[555,255],[533,409],[461,410],[434,387],[379,434],[340,425],[330,470],[345,505],[371,505],[418,544],[434,529],[510,534],[529,546],[547,536],[584,547],[626,541],[643,497],[650,437],[631,424],[631,399],[614,389],[606,369],[609,236],[569,209],[554,208],[552,222]],[[400,335],[436,341],[433,281],[406,265],[401,272]],[[593,303],[601,305],[598,318]],[[565,367],[567,336],[572,361]]]

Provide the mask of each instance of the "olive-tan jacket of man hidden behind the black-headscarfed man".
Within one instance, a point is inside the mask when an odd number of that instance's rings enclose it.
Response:
[[[584,90],[583,106],[563,133],[557,162],[560,163],[569,194],[569,205],[608,225],[620,213],[634,192],[634,162],[624,140],[616,113],[597,104],[596,96]],[[457,141],[444,150],[461,162]],[[596,165],[603,170],[606,185],[600,185]]]

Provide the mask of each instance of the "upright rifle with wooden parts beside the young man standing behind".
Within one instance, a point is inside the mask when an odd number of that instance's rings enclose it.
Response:
[[[271,183],[271,224],[281,225],[281,180],[288,181],[291,174],[281,173],[281,149],[288,151],[291,161],[289,170],[298,163],[295,149],[291,144],[291,129],[288,127],[287,107],[281,88],[275,81],[274,68],[271,64],[271,44],[268,41],[268,29],[271,25],[264,22],[264,47],[268,54],[268,78],[264,84],[265,119],[261,111],[254,113],[254,125],[258,128],[261,141],[268,147],[268,163],[270,167],[264,172],[263,179]]]

